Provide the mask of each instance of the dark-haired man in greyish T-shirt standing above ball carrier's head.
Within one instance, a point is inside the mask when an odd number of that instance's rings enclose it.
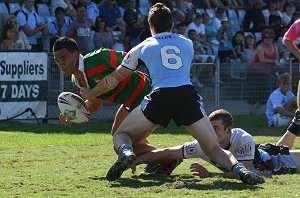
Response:
[[[89,53],[89,40],[91,35],[91,24],[86,20],[86,6],[77,4],[77,19],[67,29],[67,36],[73,38],[82,55]]]

